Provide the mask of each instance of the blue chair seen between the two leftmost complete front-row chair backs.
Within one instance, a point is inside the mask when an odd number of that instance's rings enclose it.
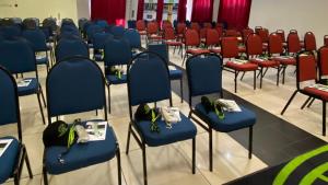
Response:
[[[132,58],[130,45],[125,39],[108,39],[104,50],[105,77],[108,88],[108,106],[110,113],[110,85],[127,83],[127,76],[121,74],[119,78],[115,74],[109,74],[108,70],[112,67],[127,66]]]

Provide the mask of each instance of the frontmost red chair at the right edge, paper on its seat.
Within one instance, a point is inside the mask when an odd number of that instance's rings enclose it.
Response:
[[[296,90],[283,107],[281,115],[284,114],[297,92],[309,96],[309,99],[318,99],[323,101],[323,136],[326,136],[326,102],[328,101],[328,92],[319,90],[316,85],[303,85],[304,82],[317,82],[316,59],[313,53],[302,51],[296,57]]]

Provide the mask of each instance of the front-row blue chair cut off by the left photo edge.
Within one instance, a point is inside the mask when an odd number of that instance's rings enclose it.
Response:
[[[24,161],[30,178],[33,178],[25,146],[22,143],[22,123],[17,85],[9,71],[0,66],[0,126],[17,124],[19,139],[12,136],[0,137],[0,140],[12,139],[5,152],[0,157],[0,184],[13,177],[14,184],[20,184]]]

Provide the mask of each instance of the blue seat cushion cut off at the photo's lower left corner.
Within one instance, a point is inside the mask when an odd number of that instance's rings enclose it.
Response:
[[[1,137],[1,139],[13,139],[5,152],[0,157],[0,184],[12,177],[21,151],[21,144],[14,137]]]

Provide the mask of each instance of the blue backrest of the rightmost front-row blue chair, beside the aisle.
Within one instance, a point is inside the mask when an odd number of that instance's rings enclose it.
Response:
[[[189,96],[222,91],[222,58],[218,55],[197,55],[186,63]]]

